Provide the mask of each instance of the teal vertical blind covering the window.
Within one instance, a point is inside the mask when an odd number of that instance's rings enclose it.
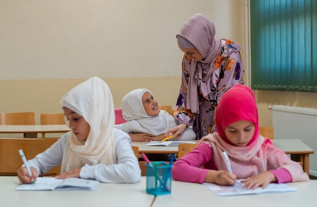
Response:
[[[251,88],[317,92],[317,0],[250,0]]]

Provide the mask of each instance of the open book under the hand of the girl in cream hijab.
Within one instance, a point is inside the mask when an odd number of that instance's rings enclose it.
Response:
[[[94,190],[100,182],[81,178],[38,177],[35,183],[22,184],[16,190]]]

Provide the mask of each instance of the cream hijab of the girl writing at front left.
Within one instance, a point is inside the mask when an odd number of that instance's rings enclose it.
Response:
[[[85,164],[114,164],[114,108],[107,84],[93,77],[68,91],[60,100],[63,107],[81,115],[90,125],[86,142],[71,132],[63,152],[61,172],[81,168]]]

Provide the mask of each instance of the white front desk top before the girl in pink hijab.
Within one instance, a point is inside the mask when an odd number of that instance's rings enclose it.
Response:
[[[202,184],[172,181],[172,193],[156,196],[153,207],[221,206],[221,207],[268,207],[268,206],[313,206],[317,180],[288,183],[297,192],[217,196]]]

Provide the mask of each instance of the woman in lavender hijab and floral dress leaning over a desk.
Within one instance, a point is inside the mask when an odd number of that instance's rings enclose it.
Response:
[[[235,84],[244,84],[241,47],[230,40],[215,38],[215,25],[203,14],[190,17],[176,35],[185,54],[182,83],[174,116],[180,123],[168,130],[179,137],[192,126],[196,139],[214,127],[214,115],[221,95]]]

